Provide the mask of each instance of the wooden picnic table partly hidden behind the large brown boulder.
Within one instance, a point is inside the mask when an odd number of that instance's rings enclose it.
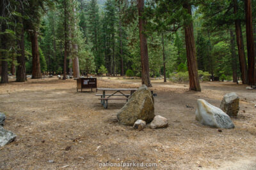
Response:
[[[96,96],[100,96],[100,103],[104,108],[108,108],[108,100],[126,100],[128,101],[129,97],[137,90],[137,89],[110,89],[110,88],[97,88],[97,90],[102,90],[102,94],[96,94]],[[110,94],[106,94],[106,91],[109,91]],[[124,92],[130,92],[130,94],[125,94]],[[117,94],[118,93],[118,94]],[[120,96],[123,98],[113,98],[116,96]],[[125,98],[124,98],[125,97]]]

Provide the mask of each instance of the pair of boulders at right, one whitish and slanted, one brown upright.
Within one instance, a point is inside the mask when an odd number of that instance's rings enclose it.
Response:
[[[204,99],[198,99],[197,106],[196,120],[201,124],[225,129],[235,127],[230,117],[237,117],[239,111],[239,97],[236,93],[225,94],[220,108],[207,103]]]

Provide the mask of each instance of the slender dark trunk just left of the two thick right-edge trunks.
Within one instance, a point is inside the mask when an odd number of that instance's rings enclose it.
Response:
[[[233,82],[237,83],[237,59],[236,59],[236,49],[235,49],[235,35],[232,29],[230,29],[230,53],[232,60],[232,72],[233,72]]]

